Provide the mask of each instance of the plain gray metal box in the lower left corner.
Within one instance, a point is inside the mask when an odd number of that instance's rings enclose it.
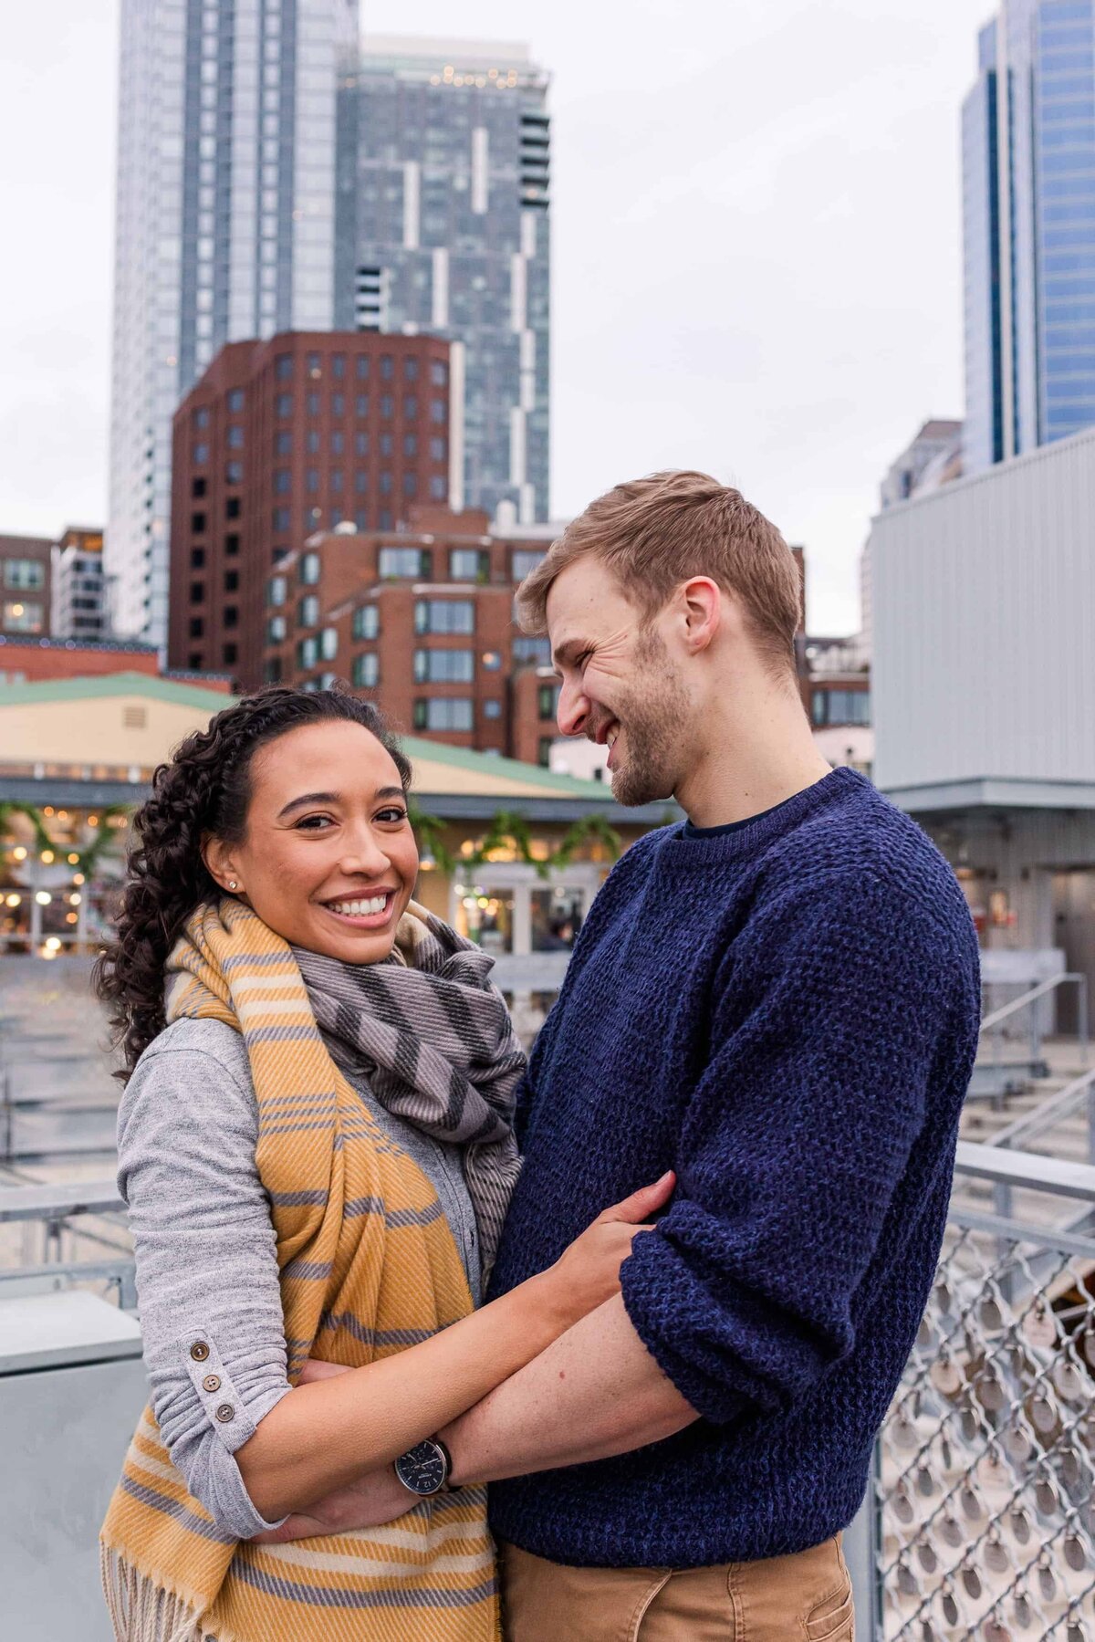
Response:
[[[3,1637],[113,1637],[99,1525],[146,1401],[128,1312],[82,1289],[0,1300]]]

